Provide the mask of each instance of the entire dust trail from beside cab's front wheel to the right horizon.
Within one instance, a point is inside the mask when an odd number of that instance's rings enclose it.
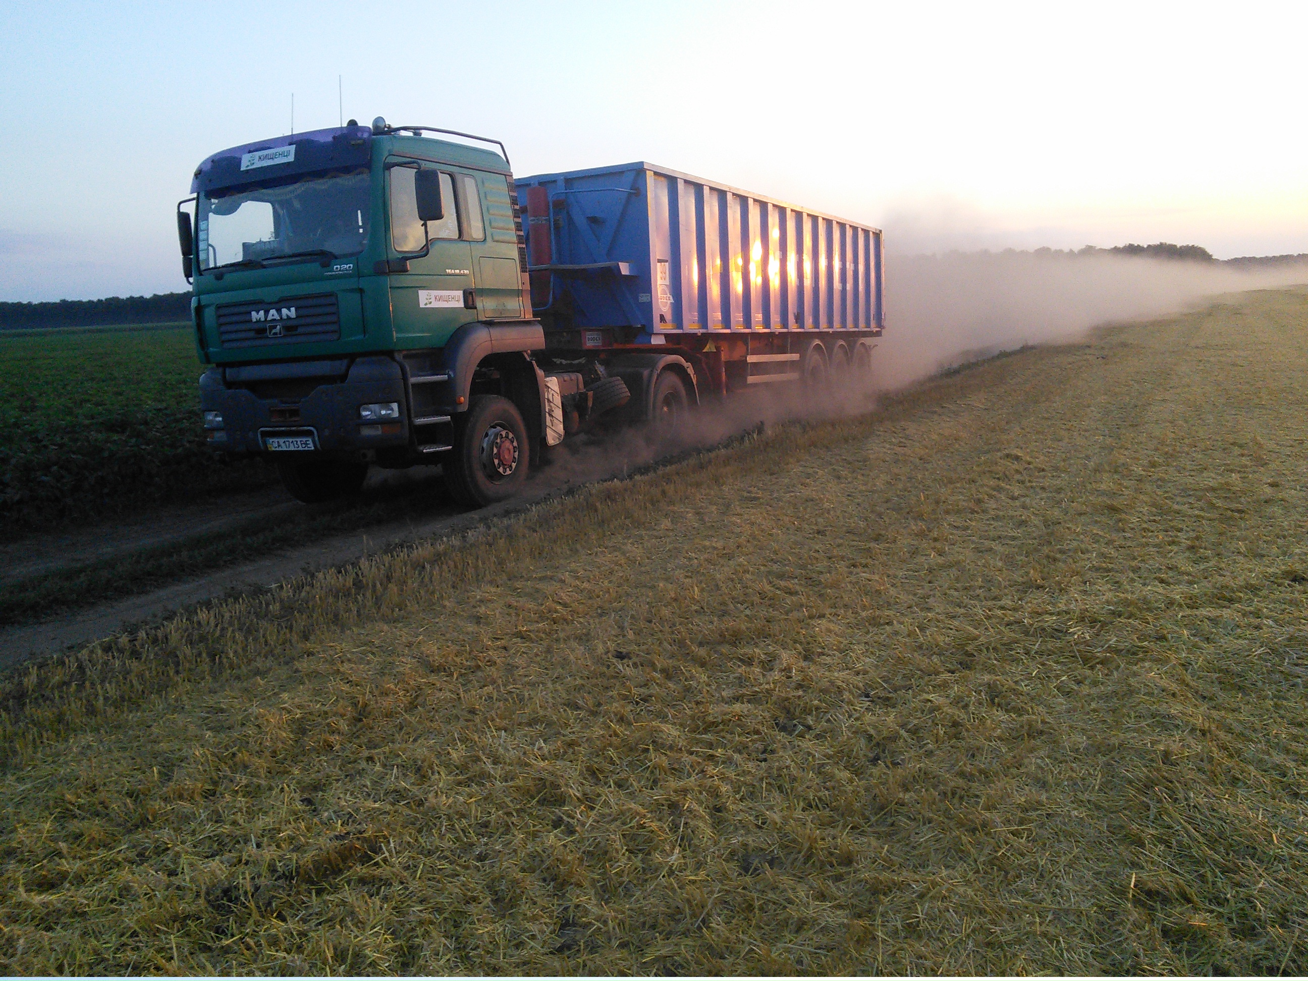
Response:
[[[1308,266],[1245,271],[1192,262],[1070,252],[888,255],[886,334],[870,386],[815,395],[780,385],[693,412],[668,442],[647,426],[602,428],[553,447],[543,481],[628,476],[659,459],[799,419],[861,415],[882,392],[1027,344],[1069,343],[1096,326],[1165,317],[1220,294],[1308,283]]]

